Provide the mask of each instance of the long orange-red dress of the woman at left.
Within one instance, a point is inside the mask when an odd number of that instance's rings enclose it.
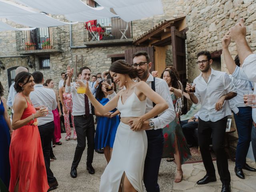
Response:
[[[28,101],[27,104],[28,108],[24,110],[21,120],[36,113],[32,104]],[[9,153],[10,192],[14,192],[18,180],[19,192],[47,192],[49,188],[40,134],[37,125],[32,124],[33,121],[30,121],[12,134]]]

